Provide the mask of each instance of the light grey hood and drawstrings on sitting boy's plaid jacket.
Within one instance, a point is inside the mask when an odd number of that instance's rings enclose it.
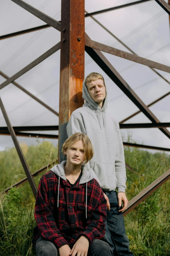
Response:
[[[64,172],[64,165],[67,161],[63,161],[60,164],[54,165],[50,171],[58,175],[59,181],[58,181],[58,197],[57,197],[57,207],[59,206],[59,190],[60,190],[60,178],[66,180],[65,172]],[[97,182],[100,184],[99,179],[95,175],[94,171],[91,168],[88,168],[86,165],[82,164],[82,176],[80,178],[79,184],[86,183],[86,218],[87,218],[87,182],[89,182],[92,179],[96,179]]]

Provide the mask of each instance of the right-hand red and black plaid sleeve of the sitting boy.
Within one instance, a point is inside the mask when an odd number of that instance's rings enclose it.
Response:
[[[104,193],[99,186],[99,184],[95,181],[92,186],[97,186],[97,190],[94,190],[94,194],[98,195],[98,203],[95,210],[92,213],[90,221],[88,221],[87,227],[83,230],[83,232],[79,235],[85,236],[89,240],[89,244],[92,243],[94,239],[101,239],[105,236],[105,221],[106,221],[106,199]],[[91,196],[94,196],[93,194]]]

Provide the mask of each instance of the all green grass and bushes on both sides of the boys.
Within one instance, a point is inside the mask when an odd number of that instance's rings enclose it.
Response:
[[[129,135],[128,142],[135,143]],[[44,141],[35,146],[21,145],[31,172],[56,161],[57,148]],[[128,200],[132,199],[170,168],[170,155],[149,153],[139,148],[124,147],[125,162],[134,171],[126,169]],[[40,177],[34,178],[36,185]],[[0,191],[25,177],[15,148],[0,152]],[[170,180],[151,194],[124,217],[130,249],[135,256],[170,255]],[[34,220],[34,202],[29,183],[13,188],[8,195],[1,193],[0,201],[0,255],[34,256],[31,245]],[[30,202],[33,202],[30,204]]]

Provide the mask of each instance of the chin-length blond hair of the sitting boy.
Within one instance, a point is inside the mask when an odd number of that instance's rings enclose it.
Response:
[[[64,150],[67,149],[68,147],[71,147],[77,141],[82,141],[82,143],[83,143],[84,157],[85,157],[84,164],[86,164],[87,162],[89,162],[92,159],[92,157],[94,155],[94,151],[93,151],[92,143],[91,143],[89,137],[85,134],[77,132],[77,133],[74,133],[73,135],[71,135],[70,137],[68,137],[68,139],[64,142],[64,144],[62,146],[62,153],[64,154]]]

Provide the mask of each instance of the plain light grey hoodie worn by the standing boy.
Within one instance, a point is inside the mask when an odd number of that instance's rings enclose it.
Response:
[[[85,77],[86,79],[86,77]],[[101,187],[106,191],[118,189],[125,192],[126,169],[124,149],[120,134],[119,123],[107,112],[107,87],[103,107],[100,108],[88,93],[83,82],[82,108],[73,111],[67,125],[67,135],[76,132],[86,134],[92,142],[94,149],[93,158],[87,163],[100,180]]]

